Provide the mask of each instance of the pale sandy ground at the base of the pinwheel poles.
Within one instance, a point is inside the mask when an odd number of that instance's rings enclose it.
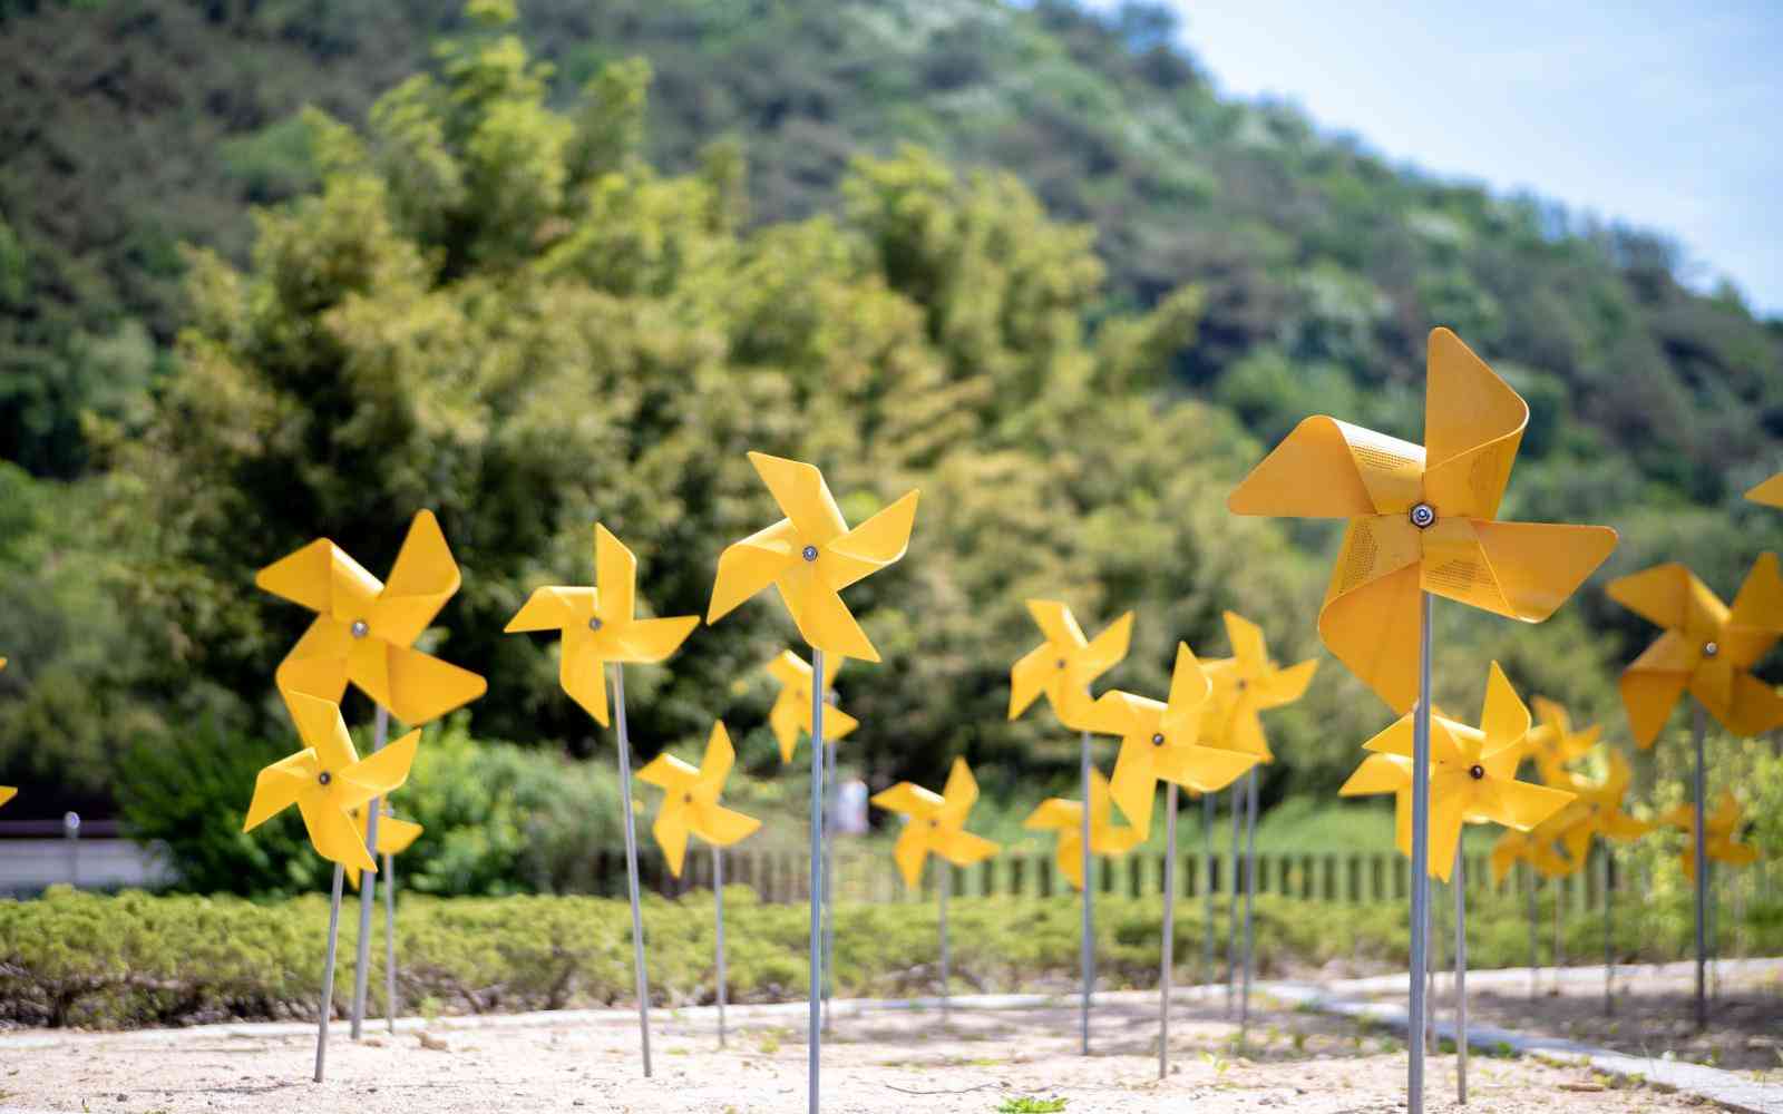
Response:
[[[337,1025],[328,1082],[312,1084],[314,1032],[294,1027],[30,1034],[36,1046],[0,1046],[0,1112],[105,1110],[218,1114],[228,1110],[353,1110],[430,1114],[490,1110],[802,1110],[802,1014],[733,1009],[717,1046],[713,1011],[653,1014],[656,1078],[638,1073],[635,1016],[530,1020],[460,1018],[426,1036],[382,1025],[353,1044]],[[1157,1005],[1111,995],[1093,1021],[1091,1057],[1077,1055],[1075,1000],[1034,1009],[854,1012],[838,1007],[824,1044],[824,1109],[993,1114],[1011,1100],[1063,1098],[1064,1110],[1309,1114],[1403,1109],[1405,1052],[1385,1032],[1262,1005],[1248,1053],[1220,998],[1184,1002],[1171,1020],[1171,1073],[1157,1078]],[[1583,1068],[1473,1059],[1475,1114],[1683,1110],[1696,1102],[1653,1089],[1615,1089]],[[1606,1085],[1608,1084],[1608,1085]],[[1430,1061],[1430,1110],[1453,1103],[1453,1057]]]

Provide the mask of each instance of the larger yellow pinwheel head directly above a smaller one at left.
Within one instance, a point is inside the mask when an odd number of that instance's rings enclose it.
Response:
[[[278,665],[291,697],[341,702],[351,681],[408,725],[435,720],[483,695],[483,677],[412,649],[458,590],[458,565],[431,512],[408,526],[390,581],[380,583],[344,549],[319,538],[267,565],[253,583],[317,611]]]

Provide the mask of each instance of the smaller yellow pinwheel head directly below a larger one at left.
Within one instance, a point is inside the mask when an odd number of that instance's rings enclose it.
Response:
[[[366,850],[366,832],[353,822],[373,797],[389,797],[408,781],[421,731],[410,731],[371,758],[353,752],[353,740],[332,700],[287,693],[303,750],[260,770],[241,831],[251,832],[292,804],[303,815],[316,854],[348,868],[376,872]]]

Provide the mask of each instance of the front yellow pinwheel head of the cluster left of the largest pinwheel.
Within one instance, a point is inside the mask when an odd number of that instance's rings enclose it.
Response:
[[[1212,684],[1195,652],[1186,642],[1179,642],[1168,702],[1159,704],[1116,688],[1102,693],[1091,708],[1091,731],[1120,736],[1109,795],[1136,831],[1152,831],[1152,802],[1159,781],[1196,793],[1216,793],[1257,765],[1255,754],[1196,743],[1202,706],[1211,692]]]

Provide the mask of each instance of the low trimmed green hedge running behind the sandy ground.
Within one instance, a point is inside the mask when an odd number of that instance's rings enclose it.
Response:
[[[357,898],[353,898],[357,900]],[[1437,898],[1441,900],[1441,898]],[[353,905],[357,911],[357,905]],[[1617,925],[1619,957],[1674,959],[1689,939],[1685,907],[1635,909]],[[398,925],[405,1009],[499,1012],[610,1005],[631,996],[628,909],[594,897],[435,898],[403,895]],[[1202,905],[1177,911],[1179,979],[1198,975]],[[1223,904],[1216,927],[1227,925]],[[713,987],[711,895],[645,898],[651,991],[660,1003],[704,1003]],[[956,898],[949,907],[956,991],[1064,991],[1077,979],[1075,898]],[[1161,902],[1102,895],[1097,955],[1104,986],[1157,980]],[[383,914],[373,961],[382,968]],[[36,900],[0,902],[0,1025],[130,1028],[228,1020],[316,1018],[328,904],[319,895],[280,902],[234,897],[116,897],[52,888]],[[1542,916],[1542,938],[1551,930]],[[1528,929],[1514,895],[1478,898],[1471,920],[1478,968],[1526,962]],[[733,1002],[806,993],[806,911],[763,905],[747,888],[726,889]],[[842,995],[904,996],[934,989],[936,905],[842,905],[836,984]],[[1601,922],[1573,918],[1567,954],[1601,955]],[[1783,952],[1783,907],[1747,909],[1724,946]],[[353,986],[357,916],[341,918],[335,1009]],[[1439,934],[1441,936],[1441,934]],[[1546,948],[1546,943],[1544,943]],[[1223,938],[1221,938],[1223,954]],[[1259,975],[1405,964],[1405,911],[1257,900]],[[371,979],[376,1011],[383,980]]]

